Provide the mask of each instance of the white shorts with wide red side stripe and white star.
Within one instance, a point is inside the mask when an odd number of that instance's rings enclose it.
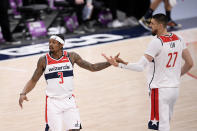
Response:
[[[151,89],[151,115],[148,128],[170,131],[170,120],[174,104],[179,95],[179,88]]]

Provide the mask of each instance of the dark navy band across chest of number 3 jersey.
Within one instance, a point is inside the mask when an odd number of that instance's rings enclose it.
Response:
[[[63,72],[63,77],[73,76],[73,70],[71,70],[71,71],[60,71],[60,72]],[[46,80],[53,79],[53,78],[59,78],[58,72],[45,74],[45,79]]]

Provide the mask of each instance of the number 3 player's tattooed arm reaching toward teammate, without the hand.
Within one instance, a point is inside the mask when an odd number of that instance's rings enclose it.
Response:
[[[83,60],[77,53],[75,52],[70,52],[69,56],[71,58],[71,62],[74,64],[76,63],[80,67],[87,69],[89,71],[100,71],[103,70],[107,67],[109,67],[111,64],[109,62],[100,62],[96,64],[89,63],[86,60]]]

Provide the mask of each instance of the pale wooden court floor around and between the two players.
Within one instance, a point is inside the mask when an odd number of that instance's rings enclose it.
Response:
[[[174,109],[171,131],[197,131],[197,30],[177,32],[185,37],[194,67],[193,77],[182,77],[180,96]],[[140,37],[109,44],[74,49],[82,58],[95,63],[105,61],[101,53],[135,62],[144,53],[152,37]],[[27,96],[21,110],[19,93],[30,79],[41,55],[0,61],[0,131],[44,131],[44,77]],[[89,72],[74,67],[74,88],[83,131],[146,131],[149,96],[146,71],[132,72],[109,67]]]

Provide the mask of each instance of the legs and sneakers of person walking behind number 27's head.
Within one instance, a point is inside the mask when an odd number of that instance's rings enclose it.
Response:
[[[166,16],[168,18],[168,27],[170,28],[175,28],[179,29],[182,27],[181,24],[177,24],[175,21],[172,20],[171,18],[171,10],[172,8],[176,5],[176,0],[154,0],[149,9],[147,10],[146,14],[139,20],[139,23],[147,30],[151,30],[149,27],[150,19],[152,17],[153,12],[155,9],[159,6],[161,2],[164,2],[165,5],[165,11],[166,11]]]

